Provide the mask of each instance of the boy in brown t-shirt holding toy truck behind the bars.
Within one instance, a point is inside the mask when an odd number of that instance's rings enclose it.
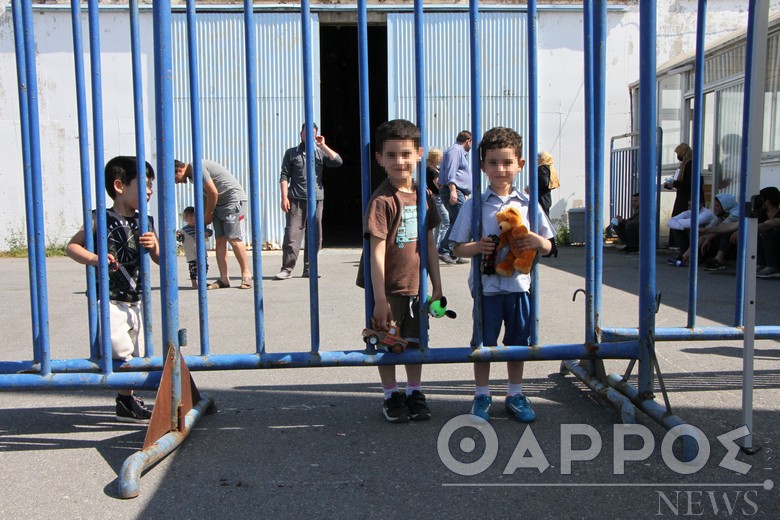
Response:
[[[419,344],[419,321],[411,316],[412,298],[420,289],[420,253],[417,227],[417,187],[414,173],[423,149],[420,129],[404,119],[380,125],[376,133],[376,160],[387,173],[374,192],[366,209],[364,236],[371,241],[371,282],[374,290],[374,311],[371,327],[388,330],[395,321],[401,336]],[[428,273],[431,277],[432,300],[442,296],[439,262],[433,230],[440,223],[430,195],[426,240]],[[431,210],[433,209],[433,210]],[[421,391],[422,365],[406,366],[406,395],[398,390],[395,365],[379,366],[385,401],[383,412],[390,422],[430,419],[431,412]]]

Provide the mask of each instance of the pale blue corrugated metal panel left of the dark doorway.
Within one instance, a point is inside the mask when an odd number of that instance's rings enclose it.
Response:
[[[259,201],[261,239],[282,243],[279,168],[284,151],[300,142],[303,123],[301,17],[258,13],[254,17],[258,70]],[[244,20],[240,13],[197,18],[203,158],[223,164],[249,193]],[[192,159],[186,15],[173,16],[174,150]],[[318,17],[312,16],[312,84],[315,121],[320,114]],[[250,197],[252,195],[250,194]],[[193,205],[191,185],[177,187],[177,211]]]

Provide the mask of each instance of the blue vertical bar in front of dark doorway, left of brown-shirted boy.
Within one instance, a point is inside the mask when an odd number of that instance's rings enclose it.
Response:
[[[360,96],[360,181],[362,215],[365,218],[371,198],[371,121],[368,92],[368,7],[366,0],[358,0],[358,90]],[[362,228],[361,228],[362,233]],[[366,326],[371,324],[374,309],[374,290],[371,283],[371,259],[367,240],[363,240],[363,273],[365,278]]]

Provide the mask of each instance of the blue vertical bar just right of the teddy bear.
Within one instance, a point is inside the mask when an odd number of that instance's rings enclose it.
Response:
[[[526,13],[526,25],[528,32],[528,141],[527,141],[527,153],[526,167],[528,168],[528,185],[530,187],[529,197],[531,199],[531,207],[536,208],[535,211],[529,211],[529,224],[531,231],[537,233],[539,231],[539,213],[541,207],[539,206],[539,175],[538,157],[539,151],[539,78],[538,78],[538,63],[536,60],[537,55],[537,29],[538,14],[536,12],[536,0],[528,0],[528,12]],[[537,266],[531,271],[531,334],[529,342],[531,345],[539,343],[539,268]]]

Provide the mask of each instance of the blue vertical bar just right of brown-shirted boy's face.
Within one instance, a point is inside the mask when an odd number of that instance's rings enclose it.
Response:
[[[417,106],[417,126],[420,128],[423,151],[428,151],[428,129],[425,124],[425,52],[423,49],[425,18],[423,0],[414,0],[414,70],[415,94]],[[420,301],[418,313],[420,320],[420,347],[428,348],[428,208],[426,197],[426,161],[423,156],[417,168],[417,245],[420,251]],[[431,208],[435,209],[435,208]]]

